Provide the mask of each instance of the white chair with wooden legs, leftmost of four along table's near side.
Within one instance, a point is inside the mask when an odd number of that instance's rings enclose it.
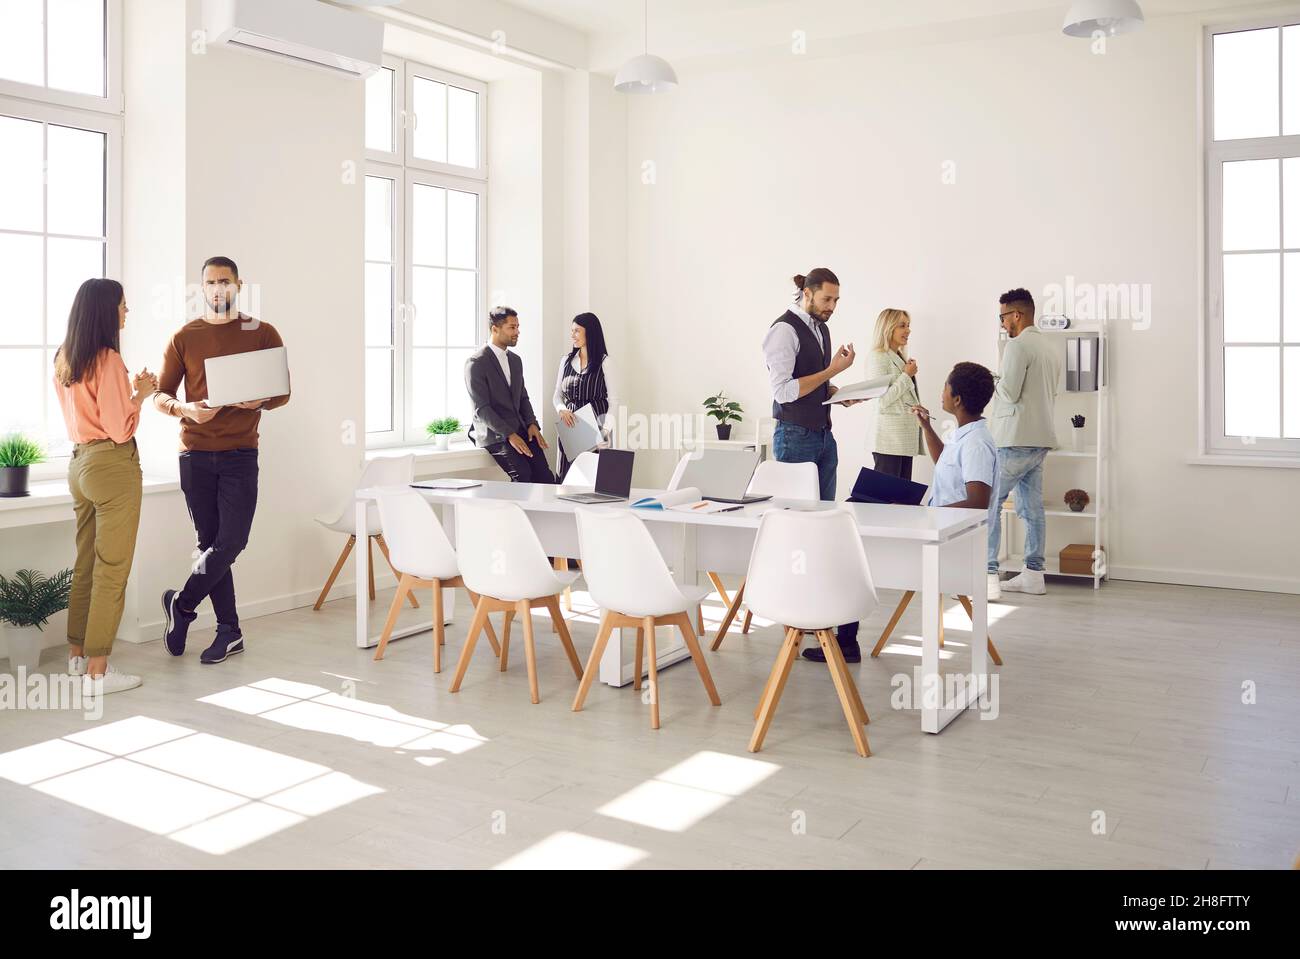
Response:
[[[393,550],[394,572],[396,569],[402,572],[398,573],[398,591],[389,607],[389,619],[384,624],[384,634],[374,651],[374,661],[378,663],[384,659],[384,651],[389,647],[398,613],[402,612],[402,602],[411,595],[411,590],[432,589],[433,672],[441,673],[442,647],[447,642],[443,630],[442,591],[459,586],[469,594],[471,602],[477,603],[478,596],[460,578],[456,551],[424,498],[415,490],[400,487],[380,489],[377,492],[380,518],[385,529],[391,530],[390,548]],[[497,643],[497,632],[490,622],[484,625],[488,630],[488,639],[499,656],[500,646]]]

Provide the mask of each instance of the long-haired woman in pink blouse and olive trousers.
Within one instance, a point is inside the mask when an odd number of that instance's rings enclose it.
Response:
[[[55,391],[68,437],[77,444],[68,489],[77,517],[77,563],[68,599],[68,671],[83,695],[120,693],[139,676],[108,664],[122,621],[126,580],[140,524],[142,473],[135,448],[140,407],[157,389],[147,369],[129,378],[121,330],[126,296],[116,279],[87,279],[55,355]]]

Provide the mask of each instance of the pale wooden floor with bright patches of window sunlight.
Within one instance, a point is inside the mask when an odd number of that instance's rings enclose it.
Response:
[[[146,682],[99,721],[0,711],[0,868],[1291,865],[1300,596],[1052,581],[1008,599],[991,607],[996,719],[927,735],[890,708],[890,678],[919,663],[918,603],[880,659],[850,667],[870,759],[826,667],[802,661],[746,752],[780,641],[758,621],[706,654],[720,708],[689,664],[662,673],[658,732],[630,687],[598,684],[572,713],[577,681],[541,617],[541,704],[517,626],[507,673],[480,642],[448,694],[463,600],[437,677],[428,633],[382,663],[355,648],[351,599],[246,621],[248,651],[216,667],[198,660],[207,630],[182,659],[120,646]],[[864,647],[896,600],[881,595]],[[965,616],[945,622],[945,667],[963,668]],[[47,651],[43,668],[61,661]]]

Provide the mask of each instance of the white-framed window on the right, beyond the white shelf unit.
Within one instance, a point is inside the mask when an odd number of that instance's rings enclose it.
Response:
[[[1205,39],[1208,452],[1300,457],[1300,16]]]

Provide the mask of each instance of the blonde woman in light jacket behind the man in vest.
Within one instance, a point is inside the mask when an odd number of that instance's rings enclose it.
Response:
[[[889,391],[876,400],[876,470],[911,480],[911,457],[920,456],[920,425],[911,408],[916,394],[916,361],[907,359],[911,317],[904,309],[883,309],[876,317],[872,348],[867,353],[867,377],[890,377]]]

